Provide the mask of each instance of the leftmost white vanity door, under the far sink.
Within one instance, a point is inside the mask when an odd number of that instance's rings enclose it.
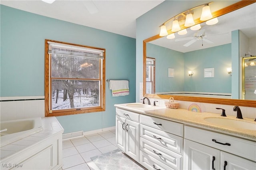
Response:
[[[125,152],[125,118],[116,116],[116,145]]]

